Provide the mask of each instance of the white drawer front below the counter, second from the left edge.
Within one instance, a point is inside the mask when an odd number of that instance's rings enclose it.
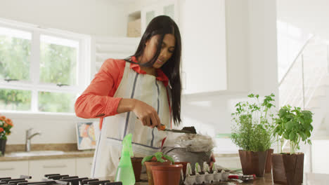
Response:
[[[75,158],[30,160],[29,172],[33,179],[42,179],[44,174],[69,174],[75,175]]]

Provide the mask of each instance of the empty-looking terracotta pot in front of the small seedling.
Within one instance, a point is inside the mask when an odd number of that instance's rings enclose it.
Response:
[[[183,165],[153,165],[153,179],[155,185],[179,185]]]

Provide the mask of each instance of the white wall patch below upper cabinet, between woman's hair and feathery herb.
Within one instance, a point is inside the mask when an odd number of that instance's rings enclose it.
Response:
[[[183,126],[193,125],[205,135],[214,137],[219,133],[231,132],[231,113],[239,101],[244,101],[247,93],[222,91],[184,95],[181,102]]]

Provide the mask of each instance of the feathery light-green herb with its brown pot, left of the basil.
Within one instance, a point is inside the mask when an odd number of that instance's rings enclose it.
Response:
[[[240,147],[239,155],[243,174],[256,174],[263,177],[266,158],[273,137],[274,95],[265,96],[263,101],[259,95],[250,94],[250,101],[238,102],[236,112],[232,114],[231,140]],[[252,102],[251,102],[252,101]]]

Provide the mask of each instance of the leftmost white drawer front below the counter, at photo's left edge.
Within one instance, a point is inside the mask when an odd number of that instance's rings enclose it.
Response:
[[[0,177],[18,178],[21,174],[27,175],[29,172],[29,163],[22,161],[0,162]]]

